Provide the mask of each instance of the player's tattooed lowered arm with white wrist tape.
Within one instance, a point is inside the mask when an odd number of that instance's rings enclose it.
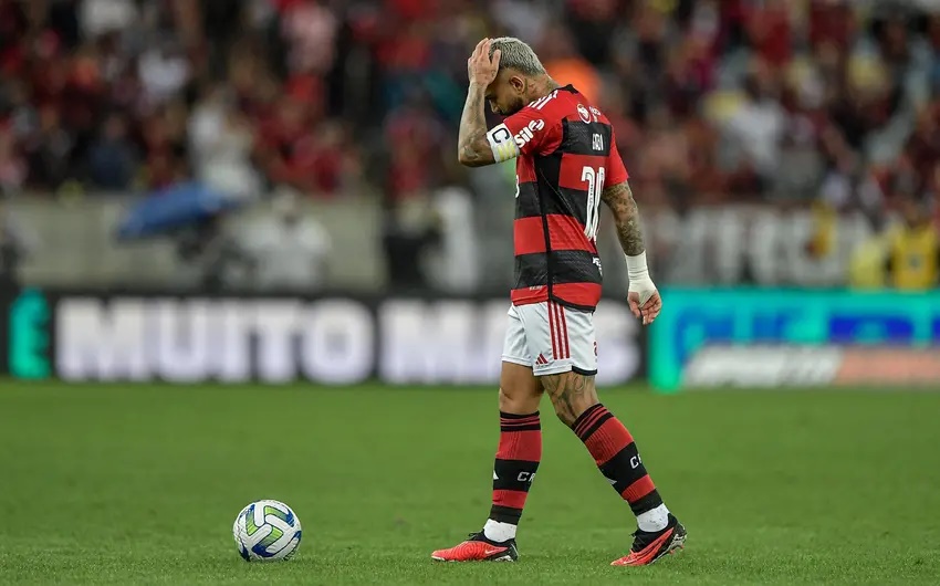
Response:
[[[626,180],[604,188],[600,198],[610,208],[614,223],[617,227],[617,238],[627,257],[627,271],[630,278],[627,301],[630,311],[637,317],[643,317],[644,325],[651,324],[662,310],[659,296],[649,270],[646,265],[646,248],[643,243],[643,229],[639,222],[639,209],[634,200],[630,186]]]

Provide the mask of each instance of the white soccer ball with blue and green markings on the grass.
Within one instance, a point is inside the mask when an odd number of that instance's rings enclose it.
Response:
[[[280,501],[257,501],[236,517],[232,534],[246,562],[288,559],[301,543],[301,521]]]

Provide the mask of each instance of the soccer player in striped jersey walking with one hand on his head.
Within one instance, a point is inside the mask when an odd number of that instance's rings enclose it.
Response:
[[[593,315],[600,297],[597,220],[613,212],[630,279],[628,303],[644,325],[662,307],[649,278],[637,205],[604,114],[560,86],[524,42],[483,39],[467,62],[470,88],[458,158],[479,167],[515,158],[515,285],[500,375],[500,441],[493,503],[479,533],[434,559],[515,561],[515,532],[542,458],[539,404],[584,442],[637,517],[629,553],[641,566],[682,547],[686,529],[662,503],[627,428],[597,398]],[[487,129],[483,106],[505,116]]]

